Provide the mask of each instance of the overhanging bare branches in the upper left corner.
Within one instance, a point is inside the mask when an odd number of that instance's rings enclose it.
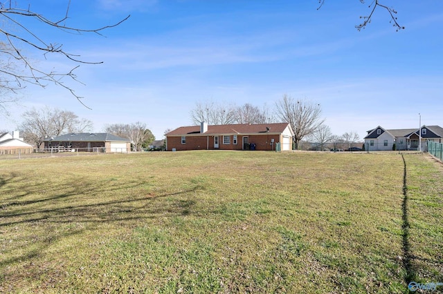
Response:
[[[25,88],[26,84],[45,87],[48,83],[52,83],[68,90],[80,101],[81,97],[75,94],[73,88],[64,84],[63,78],[69,77],[74,81],[78,81],[74,70],[78,68],[81,63],[97,64],[102,62],[85,61],[80,59],[78,55],[67,52],[61,43],[47,40],[48,37],[51,37],[50,34],[42,36],[38,32],[39,27],[35,24],[33,26],[28,24],[30,23],[29,20],[32,19],[35,23],[39,23],[42,26],[75,35],[82,35],[84,33],[101,35],[102,30],[118,26],[128,19],[129,16],[111,26],[103,26],[95,29],[75,28],[67,25],[70,6],[71,0],[68,0],[66,13],[60,19],[52,20],[47,19],[43,14],[31,9],[30,5],[21,7],[18,1],[12,0],[0,2],[0,20],[6,23],[6,25],[0,28],[0,36],[3,37],[3,41],[0,41],[0,54],[3,55],[0,67],[0,88],[7,92],[15,93],[17,90]],[[24,55],[24,50],[22,50],[24,48],[42,52],[45,59],[51,54],[62,55],[77,65],[73,66],[68,72],[44,70],[43,68],[37,67],[35,63],[30,61],[30,58]],[[4,100],[0,100],[2,107],[4,107],[5,102]],[[80,103],[82,103],[82,101],[80,101]]]

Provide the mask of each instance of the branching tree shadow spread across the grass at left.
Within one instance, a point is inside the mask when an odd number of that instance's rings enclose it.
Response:
[[[192,185],[168,193],[169,187],[166,187],[165,193],[154,195],[148,193],[145,184],[136,179],[94,182],[76,178],[73,182],[30,186],[26,181],[15,179],[13,174],[0,178],[0,195],[17,194],[0,196],[0,234],[3,235],[0,268],[44,258],[56,242],[76,235],[80,238],[85,231],[96,230],[96,224],[189,215],[196,202],[175,196],[201,189]],[[0,292],[4,275],[0,274]]]

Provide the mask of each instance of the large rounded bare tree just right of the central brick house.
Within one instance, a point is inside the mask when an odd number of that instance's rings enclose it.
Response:
[[[280,101],[277,101],[275,106],[278,118],[291,125],[296,149],[298,149],[298,143],[303,137],[314,134],[325,121],[325,119],[320,118],[320,104],[294,100],[288,95],[284,95]]]

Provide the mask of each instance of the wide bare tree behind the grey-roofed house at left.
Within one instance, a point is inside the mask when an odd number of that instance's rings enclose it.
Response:
[[[19,126],[25,141],[31,142],[39,148],[43,140],[62,133],[82,133],[92,130],[92,122],[79,119],[72,111],[42,108],[24,112],[24,121]]]

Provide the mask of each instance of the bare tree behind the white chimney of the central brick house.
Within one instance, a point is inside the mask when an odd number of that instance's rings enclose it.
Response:
[[[236,111],[233,106],[224,106],[214,101],[198,102],[190,111],[193,124],[206,121],[209,125],[235,124]]]

